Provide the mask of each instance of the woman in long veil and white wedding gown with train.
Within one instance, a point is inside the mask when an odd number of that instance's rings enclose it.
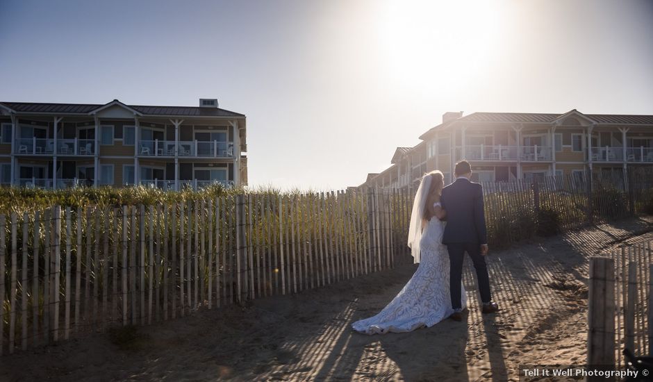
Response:
[[[443,186],[440,171],[422,176],[408,229],[408,247],[420,265],[390,304],[379,314],[354,322],[354,330],[366,334],[402,333],[433,326],[454,313],[449,294],[449,254],[442,244],[442,219],[447,215],[440,206]],[[464,309],[467,296],[461,288]]]

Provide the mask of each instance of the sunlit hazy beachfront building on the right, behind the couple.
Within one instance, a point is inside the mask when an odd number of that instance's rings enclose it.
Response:
[[[440,169],[445,183],[462,159],[472,164],[475,181],[584,176],[588,169],[620,177],[628,168],[653,166],[653,115],[450,112],[420,140],[402,155],[425,147],[425,171]],[[363,185],[379,184],[372,177]]]

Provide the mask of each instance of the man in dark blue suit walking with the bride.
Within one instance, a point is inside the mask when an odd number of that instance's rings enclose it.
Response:
[[[483,313],[495,313],[497,303],[490,296],[490,277],[485,256],[488,254],[488,239],[483,212],[483,190],[479,183],[472,183],[472,166],[466,160],[456,163],[456,181],[443,188],[440,204],[447,211],[447,225],[443,244],[447,245],[450,260],[450,291],[454,314],[451,318],[462,321],[461,280],[465,252],[472,258],[479,281]]]

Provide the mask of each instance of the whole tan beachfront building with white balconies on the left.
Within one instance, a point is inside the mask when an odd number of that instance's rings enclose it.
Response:
[[[199,106],[0,102],[0,183],[247,185],[245,115]]]

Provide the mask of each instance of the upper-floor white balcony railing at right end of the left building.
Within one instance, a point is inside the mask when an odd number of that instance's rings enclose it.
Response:
[[[229,158],[233,156],[233,142],[206,142],[198,140],[142,140],[139,142],[140,156],[174,156],[175,148],[179,156],[208,156]]]

